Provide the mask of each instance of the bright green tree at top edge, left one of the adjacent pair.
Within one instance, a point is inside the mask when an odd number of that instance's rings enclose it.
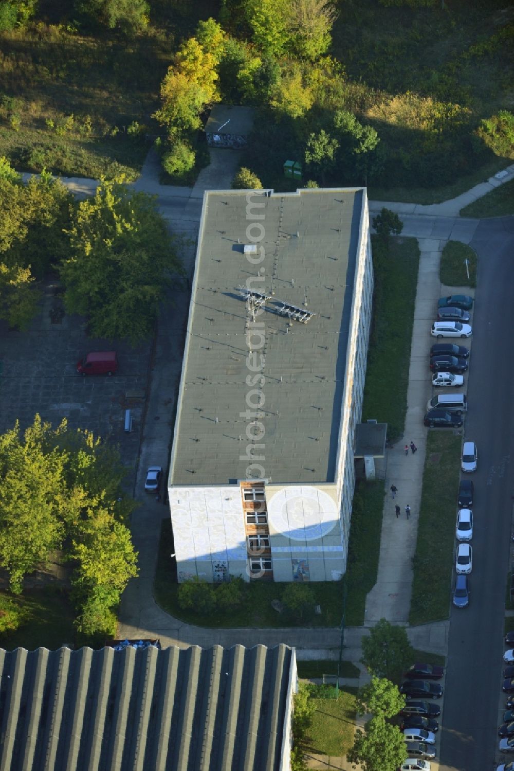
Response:
[[[281,56],[287,48],[287,0],[247,0],[247,22],[257,49]]]

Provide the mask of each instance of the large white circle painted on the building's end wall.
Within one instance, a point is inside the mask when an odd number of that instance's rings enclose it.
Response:
[[[317,540],[339,520],[334,500],[317,487],[286,487],[267,498],[267,517],[278,533],[293,540]]]

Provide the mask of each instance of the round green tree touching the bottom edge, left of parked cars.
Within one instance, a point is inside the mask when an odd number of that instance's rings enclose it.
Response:
[[[347,754],[350,763],[359,763],[363,771],[396,771],[406,757],[400,729],[385,722],[384,715],[368,721],[364,732],[357,729],[354,746]]]

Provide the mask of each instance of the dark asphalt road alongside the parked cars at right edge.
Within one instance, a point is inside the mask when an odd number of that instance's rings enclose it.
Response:
[[[479,466],[472,475],[470,604],[460,611],[452,608],[450,615],[440,754],[444,771],[491,771],[512,759],[500,759],[497,729],[499,707],[506,702],[501,694],[503,618],[514,504],[514,217],[482,221],[471,246],[479,254],[479,281],[465,439],[477,443]]]

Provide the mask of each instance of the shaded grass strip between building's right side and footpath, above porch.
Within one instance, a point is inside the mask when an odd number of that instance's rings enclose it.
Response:
[[[389,248],[377,237],[371,243],[375,292],[362,420],[385,421],[395,441],[403,434],[407,410],[419,247],[415,238],[391,238]]]

